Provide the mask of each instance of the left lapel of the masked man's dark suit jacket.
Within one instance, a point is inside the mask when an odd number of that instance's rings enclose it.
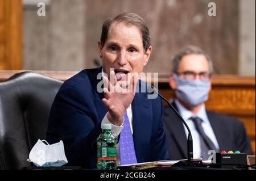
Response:
[[[171,104],[179,112],[175,102],[172,102]],[[187,137],[185,136],[184,125],[182,121],[179,119],[179,117],[175,115],[175,113],[172,113],[171,115],[172,116],[170,117],[170,120],[172,120],[172,125],[168,124],[168,126],[170,126],[170,129],[172,130],[174,135],[178,135],[174,137],[176,143],[179,146],[183,156],[187,157]]]

